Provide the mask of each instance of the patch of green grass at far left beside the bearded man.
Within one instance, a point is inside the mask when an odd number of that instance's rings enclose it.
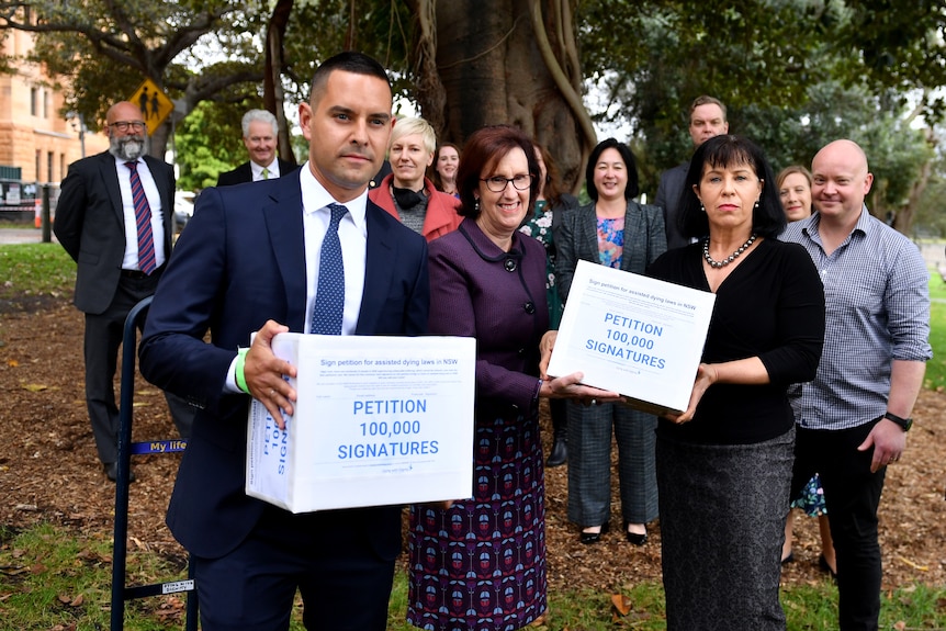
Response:
[[[0,300],[18,295],[70,295],[76,263],[59,244],[0,246]]]

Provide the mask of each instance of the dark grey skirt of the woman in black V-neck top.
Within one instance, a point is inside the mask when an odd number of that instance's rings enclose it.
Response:
[[[795,428],[754,444],[657,432],[669,631],[786,628],[778,599]]]

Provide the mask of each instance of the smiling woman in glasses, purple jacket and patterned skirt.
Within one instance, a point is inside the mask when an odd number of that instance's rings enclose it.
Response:
[[[539,398],[617,397],[579,373],[539,378],[545,249],[518,232],[538,176],[520,129],[475,132],[457,178],[464,219],[430,243],[429,333],[476,338],[476,399],[473,496],[410,509],[407,621],[424,629],[519,629],[543,615]]]

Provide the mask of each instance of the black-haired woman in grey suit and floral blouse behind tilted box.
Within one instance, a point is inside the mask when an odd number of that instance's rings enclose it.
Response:
[[[613,138],[599,143],[585,181],[593,202],[566,213],[555,234],[555,273],[565,302],[579,260],[642,274],[667,249],[661,209],[631,199],[638,194],[638,168],[627,145]],[[582,528],[582,543],[597,543],[608,531],[612,433],[623,536],[634,545],[646,543],[646,523],[657,517],[656,425],[653,415],[623,405],[568,403],[568,519]]]

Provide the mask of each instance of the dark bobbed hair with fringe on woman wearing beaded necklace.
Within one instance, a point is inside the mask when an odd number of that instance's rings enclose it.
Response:
[[[762,149],[748,138],[723,134],[697,147],[690,160],[686,184],[680,195],[679,228],[684,236],[701,238],[709,234],[709,219],[694,192],[694,185],[700,183],[707,165],[714,168],[746,165],[752,168],[763,181],[758,206],[752,213],[752,230],[761,237],[776,237],[781,234],[787,221],[768,160]]]

